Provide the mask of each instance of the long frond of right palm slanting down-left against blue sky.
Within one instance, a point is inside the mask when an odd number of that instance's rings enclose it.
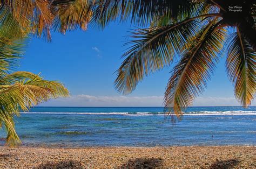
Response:
[[[114,82],[116,89],[123,94],[133,91],[138,82],[158,69],[170,65],[186,39],[197,30],[197,22],[187,20],[153,29],[140,29],[134,32],[129,50],[124,53],[126,59],[117,70]]]

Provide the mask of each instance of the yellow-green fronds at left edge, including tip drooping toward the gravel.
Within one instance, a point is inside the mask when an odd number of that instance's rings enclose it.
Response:
[[[69,95],[61,83],[44,80],[29,72],[8,74],[0,82],[0,120],[7,131],[6,142],[9,145],[20,142],[13,121],[14,115],[19,116],[20,109],[28,111],[33,105]]]

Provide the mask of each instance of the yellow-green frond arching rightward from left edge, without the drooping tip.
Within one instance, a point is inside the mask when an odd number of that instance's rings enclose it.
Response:
[[[62,85],[62,83],[44,80],[39,75],[30,72],[15,72],[6,75],[2,78],[0,88],[0,97],[9,95],[10,91],[13,91],[14,93],[20,93],[17,94],[16,97],[21,96],[21,101],[24,101],[22,98],[28,98],[30,101],[22,104],[24,105],[22,106],[24,109],[40,102],[47,101],[50,98],[65,97],[69,95],[69,91]],[[26,105],[27,103],[28,105]]]

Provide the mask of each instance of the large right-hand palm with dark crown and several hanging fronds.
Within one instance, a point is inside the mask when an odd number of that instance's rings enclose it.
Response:
[[[255,94],[255,1],[142,1],[104,0],[94,9],[93,21],[102,27],[113,20],[131,19],[140,26],[117,70],[116,89],[131,93],[145,76],[172,64],[164,104],[173,122],[181,119],[210,79],[227,48],[226,69],[235,97],[243,107]]]

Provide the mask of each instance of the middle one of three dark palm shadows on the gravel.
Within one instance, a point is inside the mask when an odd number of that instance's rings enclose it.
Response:
[[[130,159],[118,168],[159,168],[164,166],[162,158],[136,158]]]

